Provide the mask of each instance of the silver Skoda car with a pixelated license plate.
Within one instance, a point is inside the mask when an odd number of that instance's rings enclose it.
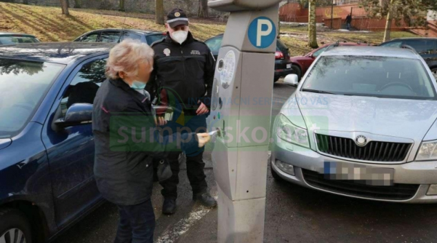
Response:
[[[437,202],[436,87],[408,47],[329,47],[274,121],[272,175],[354,198]]]

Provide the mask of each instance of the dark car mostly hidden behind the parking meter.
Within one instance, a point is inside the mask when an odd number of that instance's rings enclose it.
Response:
[[[215,59],[219,56],[222,41],[223,34],[219,34],[205,41],[205,44],[210,47]],[[292,63],[289,61],[289,48],[280,39],[276,41],[274,63],[274,82],[278,81],[279,78],[287,76],[287,74],[293,74]]]

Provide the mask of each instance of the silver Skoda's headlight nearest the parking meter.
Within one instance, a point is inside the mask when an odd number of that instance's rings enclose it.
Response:
[[[292,142],[296,145],[309,148],[307,129],[297,127],[286,116],[280,114],[278,116],[278,125],[276,126],[276,134],[282,140]]]

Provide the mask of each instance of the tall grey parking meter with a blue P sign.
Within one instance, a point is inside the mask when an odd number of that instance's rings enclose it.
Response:
[[[230,12],[208,129],[219,191],[218,242],[263,242],[274,53],[281,0],[210,0]]]

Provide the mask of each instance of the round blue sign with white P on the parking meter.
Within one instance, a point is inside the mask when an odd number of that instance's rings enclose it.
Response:
[[[258,17],[249,25],[249,41],[257,48],[264,49],[276,40],[276,25],[272,19]]]

